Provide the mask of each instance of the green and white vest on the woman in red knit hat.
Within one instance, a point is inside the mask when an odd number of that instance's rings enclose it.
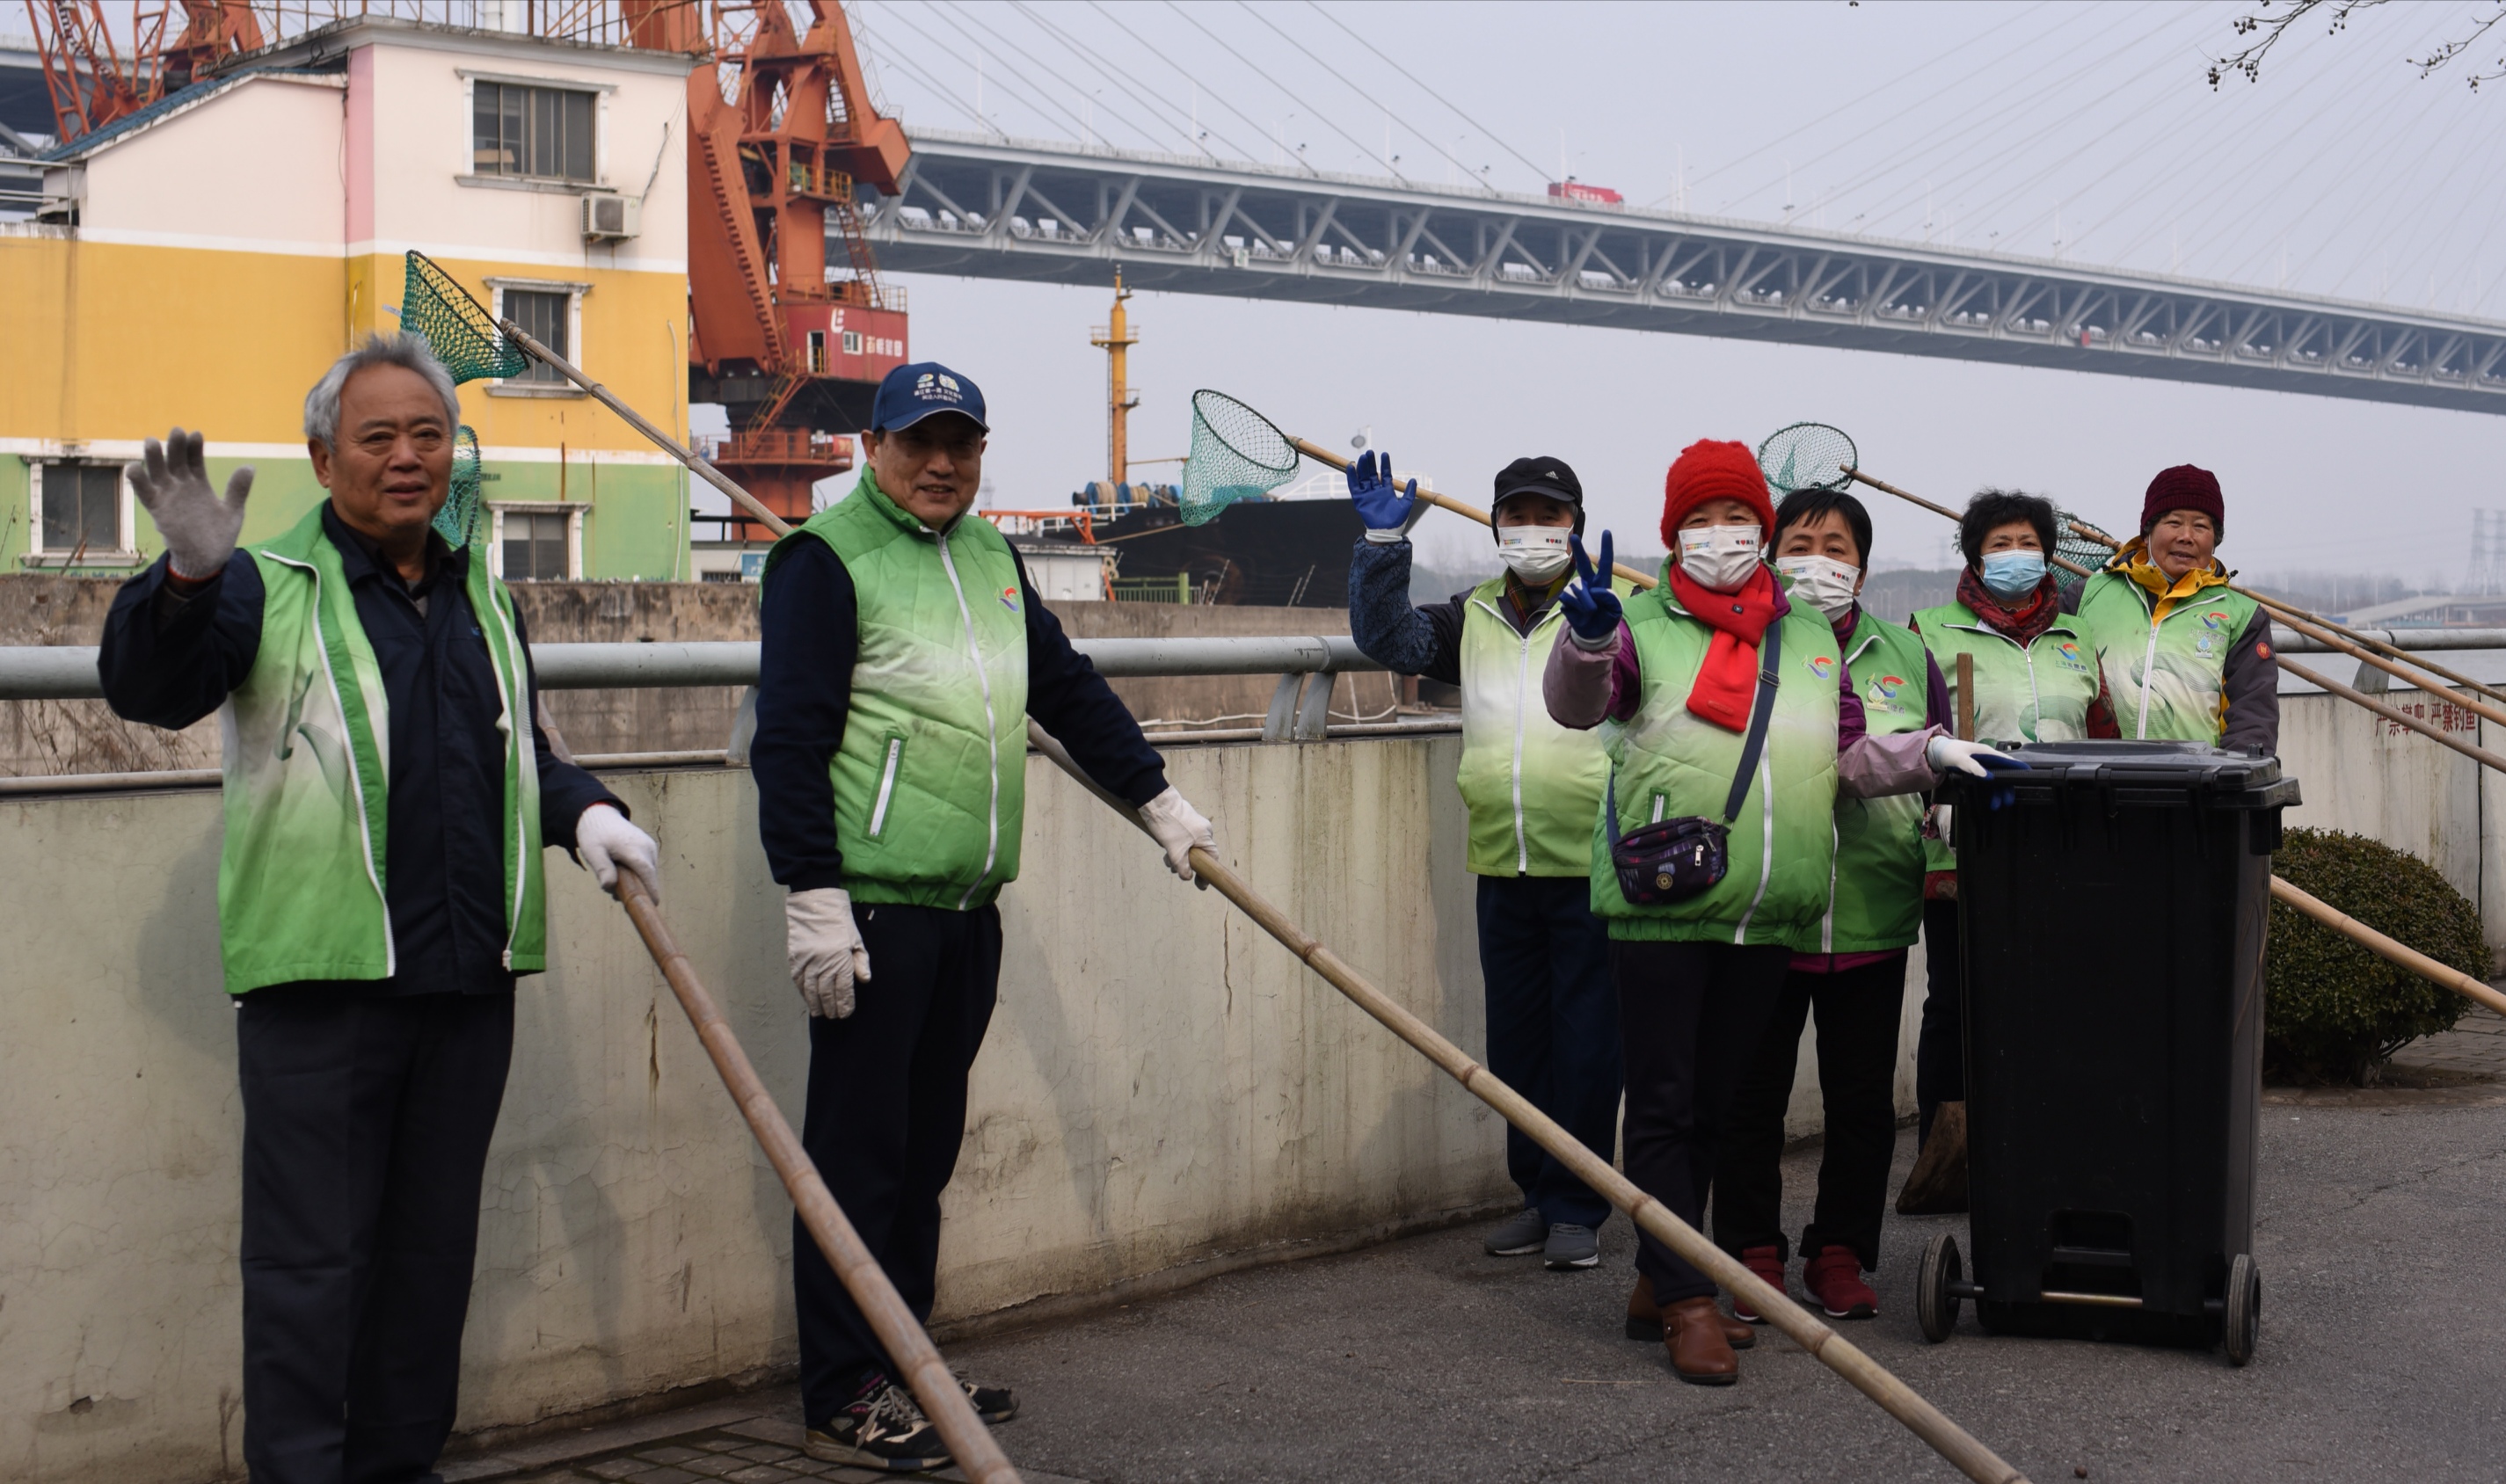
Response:
[[[1669,567],[1664,562],[1664,567]],[[1714,629],[1669,584],[1626,599],[1641,674],[1636,712],[1601,724],[1616,770],[1619,830],[1704,815],[1722,820],[1744,737],[1687,709]],[[1619,892],[1606,822],[1591,832],[1591,910],[1621,940],[1772,943],[1814,953],[1834,870],[1837,634],[1809,604],[1782,619],[1782,672],[1757,777],[1732,822],[1729,870],[1709,890],[1664,907]]]

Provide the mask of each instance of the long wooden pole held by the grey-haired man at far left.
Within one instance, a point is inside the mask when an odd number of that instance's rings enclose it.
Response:
[[[1017,1469],[1010,1466],[1010,1456],[992,1441],[992,1429],[975,1416],[975,1404],[967,1401],[957,1379],[950,1376],[947,1364],[940,1361],[932,1336],[922,1334],[915,1311],[905,1306],[880,1261],[870,1256],[860,1233],[852,1231],[852,1221],[845,1218],[845,1208],[834,1203],[827,1181],[809,1163],[799,1136],[792,1133],[757,1068],[749,1065],[749,1053],[739,1048],[739,1038],[732,1035],[732,1025],[714,1005],[714,995],[697,978],[697,965],[687,963],[687,955],[679,953],[679,945],[669,935],[669,925],[662,922],[662,910],[644,895],[644,882],[624,870],[619,872],[619,902],[626,907],[626,917],[634,920],[634,930],[644,935],[652,960],[662,965],[669,990],[679,995],[679,1008],[694,1023],[697,1040],[704,1043],[704,1055],[714,1058],[714,1070],[722,1073],[722,1085],[739,1103],[739,1116],[749,1121],[749,1133],[757,1136],[774,1173],[782,1176],[784,1191],[792,1193],[792,1208],[799,1211],[802,1226],[817,1238],[817,1251],[827,1253],[845,1291],[862,1306],[862,1316],[870,1319],[870,1329],[887,1349],[887,1359],[905,1371],[905,1384],[912,1389],[915,1401],[922,1404],[922,1414],[940,1429],[940,1441],[947,1444],[950,1456],[957,1459],[967,1479],[1017,1484]]]

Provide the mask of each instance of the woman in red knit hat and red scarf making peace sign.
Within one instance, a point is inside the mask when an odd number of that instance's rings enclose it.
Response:
[[[1747,444],[1699,441],[1664,479],[1661,584],[1619,599],[1574,544],[1566,642],[1541,689],[1601,727],[1611,785],[1591,905],[1609,922],[1626,1058],[1626,1176],[1689,1226],[1714,1178],[1739,1075],[1794,953],[1814,953],[1837,795],[1930,790],[2010,760],[1940,727],[1872,734],[1827,617],[1762,559],[1774,501]],[[1659,1326],[1684,1381],[1739,1379],[1749,1326],[1654,1238],[1636,1251],[1629,1334]]]

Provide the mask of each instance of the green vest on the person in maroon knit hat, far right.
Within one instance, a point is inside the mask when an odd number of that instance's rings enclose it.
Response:
[[[2120,572],[2080,592],[2080,627],[2098,644],[2105,694],[2125,737],[2208,742],[2228,729],[2228,649],[2253,622],[2240,592],[2205,587],[2153,622],[2158,599]]]

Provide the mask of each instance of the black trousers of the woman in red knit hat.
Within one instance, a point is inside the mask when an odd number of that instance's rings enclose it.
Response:
[[[1611,943],[1626,1045],[1626,1178],[1689,1226],[1704,1226],[1724,1123],[1742,1073],[1784,990],[1789,948]],[[1636,1271],[1654,1301],[1704,1298],[1707,1278],[1651,1236]]]

